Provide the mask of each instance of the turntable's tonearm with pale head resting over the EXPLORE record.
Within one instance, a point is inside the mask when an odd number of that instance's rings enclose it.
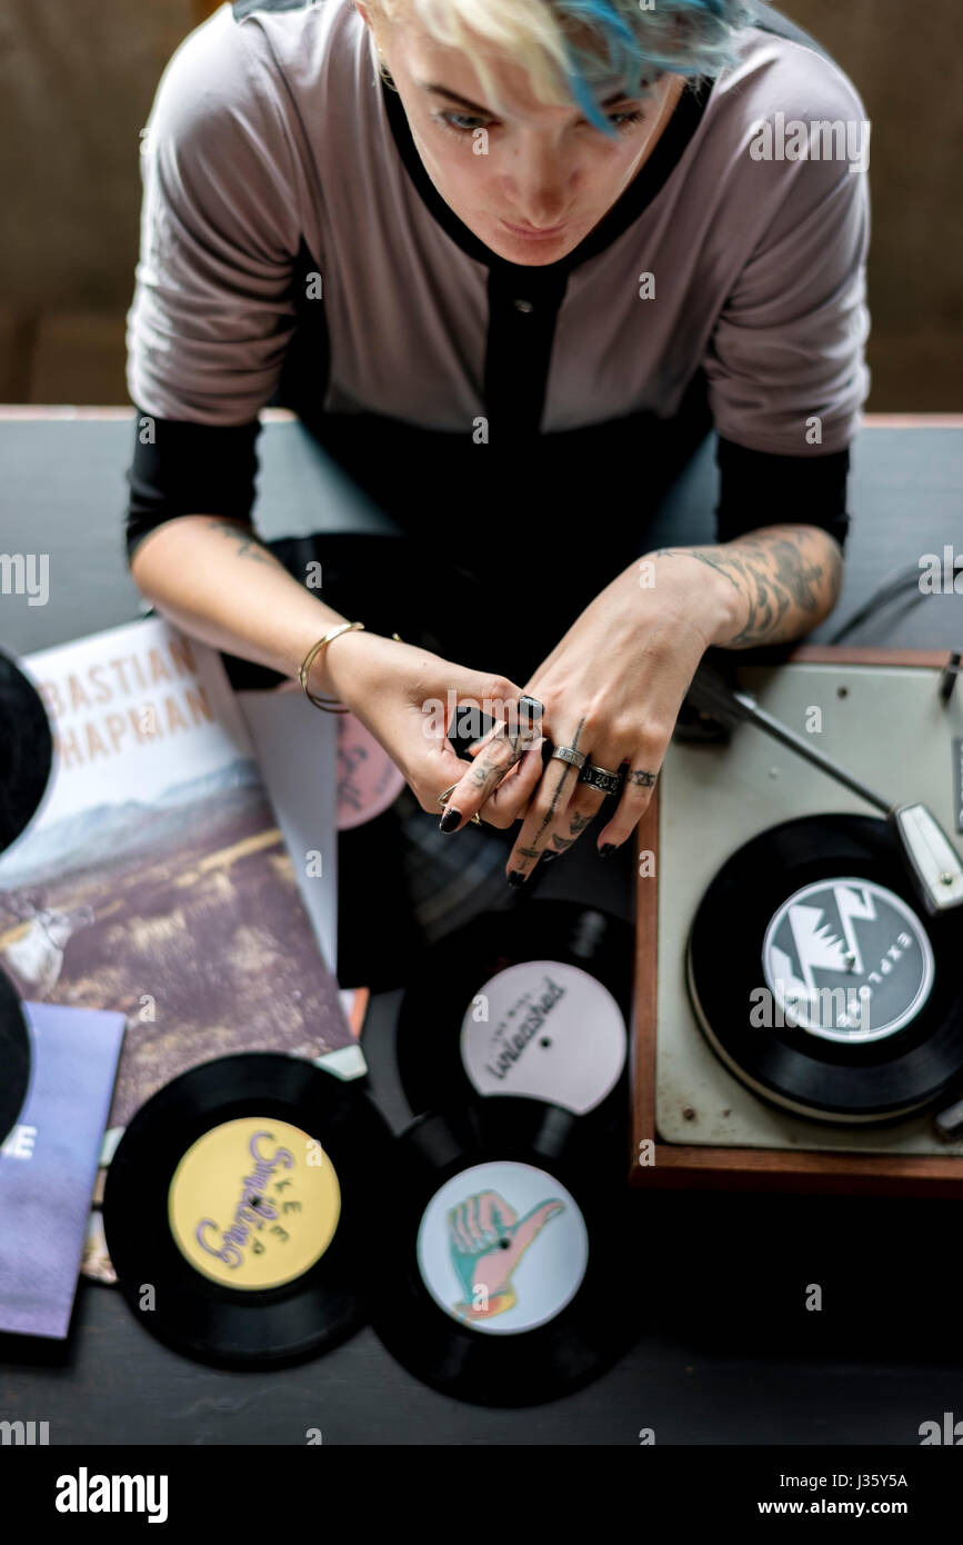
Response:
[[[688,701],[699,712],[711,714],[728,728],[744,722],[755,725],[779,745],[827,772],[836,783],[867,800],[892,825],[926,910],[937,915],[963,905],[963,861],[926,805],[894,805],[892,800],[877,794],[838,762],[816,751],[801,735],[767,714],[748,692],[732,688],[721,671],[705,660],[691,680]]]

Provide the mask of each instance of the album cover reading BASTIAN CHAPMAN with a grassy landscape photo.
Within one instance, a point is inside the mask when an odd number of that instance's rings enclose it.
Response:
[[[0,857],[0,964],[22,998],[125,1015],[111,1132],[230,1052],[363,1074],[295,879],[310,856],[286,848],[218,654],[145,618],[23,666],[54,772]]]

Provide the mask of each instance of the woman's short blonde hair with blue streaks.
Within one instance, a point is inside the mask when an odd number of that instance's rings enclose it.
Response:
[[[492,54],[520,65],[539,102],[573,99],[600,128],[610,128],[590,83],[625,76],[631,87],[648,73],[715,76],[735,60],[733,32],[745,19],[741,0],[367,0],[372,20],[389,26],[415,15],[443,46],[472,63],[486,100],[502,108],[489,70]],[[381,76],[394,87],[380,62]]]

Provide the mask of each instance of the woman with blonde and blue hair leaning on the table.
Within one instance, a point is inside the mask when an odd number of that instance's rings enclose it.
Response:
[[[614,789],[610,853],[704,650],[835,604],[867,131],[812,40],[735,0],[222,6],[145,133],[137,586],[349,708],[443,830],[522,820],[512,884]],[[324,595],[250,525],[269,402],[404,533],[319,539]],[[650,553],[710,426],[719,541]],[[449,692],[502,705],[474,762],[431,712]]]

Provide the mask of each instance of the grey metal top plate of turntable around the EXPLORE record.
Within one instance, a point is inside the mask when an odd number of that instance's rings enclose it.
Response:
[[[815,654],[815,650],[813,650]],[[789,663],[745,666],[739,684],[818,749],[892,796],[921,800],[963,851],[958,763],[963,692],[938,694],[938,667]],[[813,714],[818,709],[818,714]],[[810,729],[818,725],[819,728]],[[659,779],[654,1125],[665,1143],[809,1153],[963,1156],[932,1112],[884,1126],[796,1117],[745,1088],[708,1044],[687,990],[688,930],[722,864],[761,831],[796,816],[872,811],[750,725],[728,745],[673,740]],[[640,887],[647,879],[640,878]],[[963,912],[960,913],[963,978]],[[762,978],[759,978],[762,980]],[[949,1102],[944,1102],[949,1103]]]

